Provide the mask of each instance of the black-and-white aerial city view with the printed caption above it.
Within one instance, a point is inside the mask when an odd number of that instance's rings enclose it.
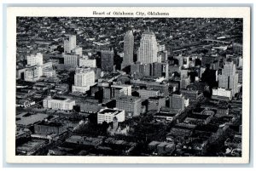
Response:
[[[15,17],[15,156],[247,156],[245,19],[108,11]]]

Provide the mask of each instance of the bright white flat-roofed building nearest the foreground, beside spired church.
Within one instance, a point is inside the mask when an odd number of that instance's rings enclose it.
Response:
[[[112,123],[113,118],[116,117],[118,122],[125,121],[125,111],[117,109],[102,109],[97,113],[97,123],[102,124],[104,121],[107,123]]]

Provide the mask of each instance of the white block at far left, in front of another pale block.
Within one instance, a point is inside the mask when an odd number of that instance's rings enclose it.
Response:
[[[42,66],[27,66],[24,71],[24,80],[26,82],[35,82],[43,76]]]

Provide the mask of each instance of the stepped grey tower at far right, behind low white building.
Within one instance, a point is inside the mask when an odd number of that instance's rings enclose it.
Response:
[[[232,89],[232,96],[238,93],[238,73],[236,73],[236,64],[233,61],[226,61],[222,74],[218,75],[218,87]]]

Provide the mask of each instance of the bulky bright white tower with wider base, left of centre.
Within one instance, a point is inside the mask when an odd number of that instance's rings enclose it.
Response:
[[[79,67],[74,76],[72,92],[85,93],[95,83],[95,72],[88,67]]]

